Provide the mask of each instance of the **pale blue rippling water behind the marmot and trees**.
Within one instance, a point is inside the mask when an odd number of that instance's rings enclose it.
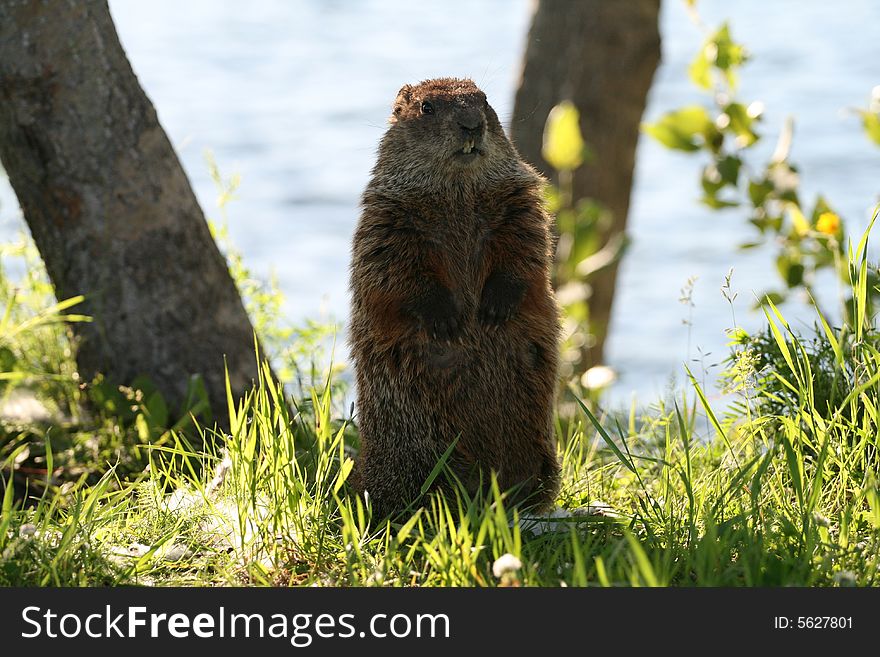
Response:
[[[822,191],[851,227],[867,223],[880,192],[880,149],[847,108],[880,84],[880,3],[701,0],[708,25],[725,17],[753,61],[742,96],[764,101],[769,155],[783,119],[796,117],[793,160],[804,198]],[[196,193],[219,219],[205,149],[226,175],[239,173],[230,232],[259,275],[277,274],[294,321],[344,323],[349,243],[357,201],[390,103],[407,82],[470,76],[509,119],[529,24],[527,0],[408,3],[372,0],[111,0],[135,72],[159,112]],[[648,120],[703,98],[687,80],[702,40],[684,3],[664,0],[663,62]],[[589,135],[587,136],[589,138]],[[755,160],[758,165],[762,159]],[[608,345],[619,372],[612,394],[649,402],[682,364],[700,372],[725,355],[724,329],[761,324],[754,297],[777,286],[768,251],[739,252],[753,237],[736,211],[699,206],[698,158],[642,139],[630,214],[632,248],[622,265]],[[23,226],[0,183],[0,239]],[[733,268],[733,309],[720,286]],[[679,303],[696,276],[689,309]],[[820,286],[835,304],[835,284]],[[732,312],[733,310],[733,312]],[[692,314],[691,314],[692,313]],[[795,323],[810,311],[786,306]],[[690,325],[683,320],[690,319]]]

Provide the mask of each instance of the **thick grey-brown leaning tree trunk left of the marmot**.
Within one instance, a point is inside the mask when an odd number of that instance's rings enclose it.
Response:
[[[106,0],[0,0],[0,158],[59,299],[83,294],[90,380],[146,375],[215,410],[256,378],[253,329]],[[222,417],[223,414],[220,414]]]

